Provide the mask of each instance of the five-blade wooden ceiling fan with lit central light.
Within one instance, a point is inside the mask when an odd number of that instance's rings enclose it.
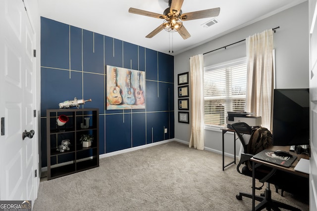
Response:
[[[150,34],[146,36],[146,38],[153,38],[163,29],[168,32],[178,32],[180,36],[186,40],[190,38],[189,32],[183,25],[183,21],[195,20],[200,18],[209,18],[209,17],[216,17],[219,15],[220,8],[212,8],[212,9],[205,9],[195,12],[187,12],[182,13],[181,7],[184,0],[168,0],[168,8],[166,8],[163,14],[149,12],[142,9],[136,8],[129,8],[130,13],[138,14],[138,15],[145,15],[154,18],[164,19],[163,23],[159,25],[158,28],[153,30]]]

